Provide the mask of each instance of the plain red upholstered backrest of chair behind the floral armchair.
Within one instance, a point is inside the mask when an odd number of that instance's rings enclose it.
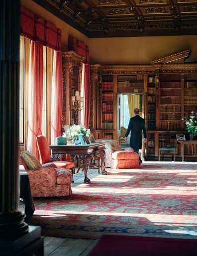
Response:
[[[51,149],[48,146],[48,142],[45,136],[39,135],[36,137],[38,151],[40,154],[41,164],[51,161]]]

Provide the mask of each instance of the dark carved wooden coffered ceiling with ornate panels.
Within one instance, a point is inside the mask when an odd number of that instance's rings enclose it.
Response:
[[[88,37],[197,34],[197,0],[34,0]]]

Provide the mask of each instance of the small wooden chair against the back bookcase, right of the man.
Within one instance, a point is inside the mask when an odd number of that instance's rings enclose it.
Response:
[[[159,136],[159,161],[162,154],[162,160],[164,159],[164,151],[172,151],[172,160],[174,155],[174,161],[176,159],[176,144],[177,140],[174,134],[163,133]]]

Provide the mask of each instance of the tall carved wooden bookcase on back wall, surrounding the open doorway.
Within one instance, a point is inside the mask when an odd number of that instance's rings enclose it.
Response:
[[[181,119],[189,116],[191,111],[197,112],[197,64],[177,63],[185,60],[189,53],[189,50],[184,51],[147,65],[91,65],[91,92],[95,96],[92,97],[92,106],[97,102],[97,108],[91,109],[94,118],[90,121],[90,128],[96,138],[118,139],[117,94],[136,93],[143,94],[148,138],[143,151],[145,159],[158,160],[159,146],[164,142],[163,134],[166,132],[171,133],[172,141],[176,134],[185,134],[186,139],[189,139]],[[102,94],[110,93],[102,87],[105,82],[113,82],[113,103],[104,102]],[[107,113],[102,103],[113,105],[113,120],[110,120],[113,129],[106,129],[102,125],[110,123],[105,120],[104,114]],[[176,159],[181,159],[181,150],[178,144]],[[186,159],[197,160],[197,147],[185,146],[185,155]]]

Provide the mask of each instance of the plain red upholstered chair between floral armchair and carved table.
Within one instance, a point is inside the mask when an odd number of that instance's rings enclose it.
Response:
[[[36,137],[36,142],[38,145],[38,151],[40,155],[40,162],[43,167],[50,166],[51,163],[56,165],[56,168],[66,168],[71,169],[72,177],[74,174],[74,163],[67,161],[51,161],[51,149],[48,146],[48,142],[45,136],[39,135]],[[74,183],[74,182],[73,182]]]

